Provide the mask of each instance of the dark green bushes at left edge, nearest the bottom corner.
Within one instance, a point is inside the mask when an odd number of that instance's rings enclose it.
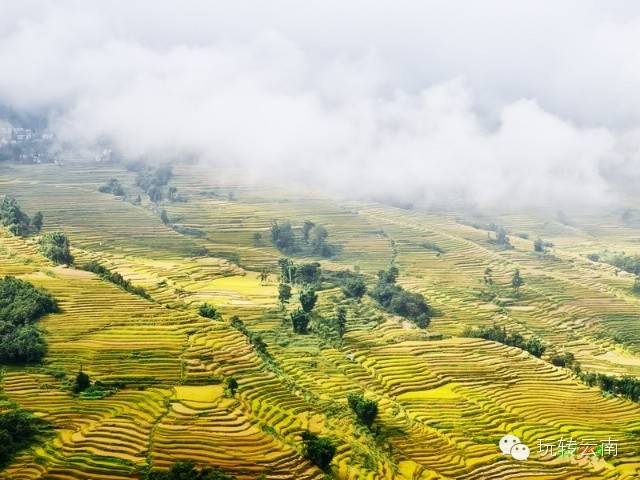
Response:
[[[0,413],[0,468],[48,429],[48,423],[31,413],[12,408]]]

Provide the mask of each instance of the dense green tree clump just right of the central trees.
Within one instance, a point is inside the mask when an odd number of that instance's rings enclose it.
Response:
[[[432,311],[420,293],[407,292],[396,283],[398,269],[390,267],[378,272],[378,284],[369,295],[385,310],[405,317],[416,326],[426,328],[431,322]]]

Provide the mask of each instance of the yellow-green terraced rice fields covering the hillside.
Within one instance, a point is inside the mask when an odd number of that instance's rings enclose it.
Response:
[[[529,237],[511,235],[515,248],[501,250],[486,231],[459,223],[459,212],[253,185],[234,172],[179,166],[174,173],[184,201],[160,205],[172,228],[149,202],[98,193],[110,177],[134,188],[133,174],[116,165],[0,168],[0,194],[15,196],[27,212],[41,210],[45,230],[67,232],[76,263],[99,260],[152,297],[56,267],[32,239],[0,232],[0,275],[48,289],[62,310],[40,323],[45,363],[2,374],[4,395],[49,420],[54,434],[0,478],[143,478],[148,467],[181,459],[240,479],[324,478],[302,455],[305,430],[334,440],[332,475],[341,479],[640,478],[640,405],[585,386],[546,357],[461,337],[467,326],[496,323],[573,353],[583,370],[640,376],[633,278],[586,258],[603,249],[640,251],[640,229],[615,212],[568,212],[571,226],[555,212],[490,212]],[[437,309],[432,324],[418,330],[372,299],[356,303],[336,288],[320,292],[316,309],[326,316],[337,304],[347,309],[342,344],[292,334],[277,303],[281,254],[269,241],[271,221],[286,219],[327,228],[336,255],[313,259],[325,270],[358,269],[373,278],[395,264],[399,283]],[[180,233],[176,225],[201,233]],[[554,243],[551,252],[533,252],[538,236]],[[444,253],[425,248],[426,241]],[[505,294],[500,305],[483,300],[487,267],[505,292],[519,268],[522,295]],[[262,269],[270,273],[266,281],[258,278]],[[202,302],[218,307],[222,320],[200,317]],[[270,361],[231,327],[233,315],[262,336]],[[80,367],[119,388],[101,399],[73,395],[65,382]],[[231,397],[222,385],[229,376],[239,384]],[[357,391],[379,403],[377,435],[347,407],[347,393]],[[529,460],[500,453],[497,442],[507,433],[531,447]],[[541,458],[539,439],[569,435],[615,438],[619,455]]]

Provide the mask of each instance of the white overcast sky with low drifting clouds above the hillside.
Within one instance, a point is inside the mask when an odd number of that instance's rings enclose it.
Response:
[[[480,206],[640,180],[640,3],[0,0],[0,104],[128,156]]]

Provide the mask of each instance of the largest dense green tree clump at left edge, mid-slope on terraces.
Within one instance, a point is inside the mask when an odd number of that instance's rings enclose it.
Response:
[[[44,290],[18,278],[0,279],[0,362],[39,362],[46,345],[35,322],[57,311],[56,301]]]

